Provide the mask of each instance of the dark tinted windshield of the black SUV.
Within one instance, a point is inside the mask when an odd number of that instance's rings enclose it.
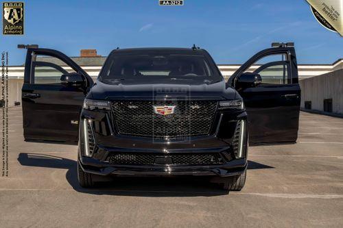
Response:
[[[215,75],[218,76],[218,75]],[[112,79],[214,79],[203,55],[150,54],[112,55],[106,61],[100,81]],[[215,79],[218,79],[216,77]]]

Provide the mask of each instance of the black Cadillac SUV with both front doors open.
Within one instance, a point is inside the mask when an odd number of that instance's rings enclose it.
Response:
[[[93,82],[67,55],[28,46],[22,96],[25,140],[78,144],[82,187],[107,175],[202,175],[241,190],[248,141],[298,133],[296,54],[283,43],[228,81],[196,47],[115,49]]]

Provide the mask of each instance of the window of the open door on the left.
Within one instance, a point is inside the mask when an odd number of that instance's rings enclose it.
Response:
[[[32,84],[59,85],[62,75],[75,72],[62,60],[42,55],[36,57],[32,66],[34,75]]]

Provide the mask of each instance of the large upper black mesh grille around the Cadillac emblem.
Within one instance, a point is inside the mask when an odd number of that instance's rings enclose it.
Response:
[[[113,101],[119,134],[153,138],[208,135],[217,101]],[[174,114],[154,112],[154,105],[172,105]]]

